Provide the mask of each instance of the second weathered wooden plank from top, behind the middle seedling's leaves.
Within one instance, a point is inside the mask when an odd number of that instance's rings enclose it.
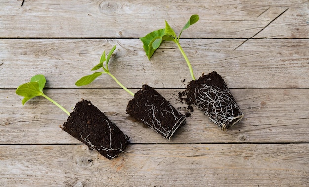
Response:
[[[217,71],[230,88],[309,87],[307,39],[253,39],[242,44],[244,41],[184,39],[181,44],[196,77]],[[0,88],[16,88],[35,74],[44,74],[49,88],[77,88],[75,82],[91,74],[102,52],[115,44],[116,55],[109,68],[128,88],[141,88],[144,83],[155,88],[185,88],[191,79],[174,43],[163,43],[149,61],[139,39],[3,39]],[[119,88],[108,75],[85,87]]]

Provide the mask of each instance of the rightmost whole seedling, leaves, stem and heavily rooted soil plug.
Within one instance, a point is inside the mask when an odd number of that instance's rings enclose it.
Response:
[[[244,114],[219,74],[211,72],[207,75],[202,75],[198,80],[195,79],[189,59],[179,43],[182,32],[198,20],[198,15],[192,15],[180,31],[178,37],[167,21],[165,21],[165,28],[153,31],[140,39],[144,44],[143,47],[148,59],[159,48],[162,41],[173,41],[178,46],[187,62],[192,77],[192,81],[187,85],[187,89],[180,96],[187,95],[185,101],[188,105],[195,104],[221,130],[226,130],[240,121]]]

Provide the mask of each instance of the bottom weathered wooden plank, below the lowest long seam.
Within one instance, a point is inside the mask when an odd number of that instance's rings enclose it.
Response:
[[[84,145],[0,145],[0,186],[306,187],[309,144],[130,145],[114,160]]]

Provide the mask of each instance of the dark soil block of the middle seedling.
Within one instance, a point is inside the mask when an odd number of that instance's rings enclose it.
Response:
[[[184,115],[146,84],[129,101],[126,111],[168,140],[186,123]]]

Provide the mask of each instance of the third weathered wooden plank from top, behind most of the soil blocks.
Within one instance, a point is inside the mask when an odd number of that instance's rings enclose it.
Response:
[[[186,105],[177,100],[179,91],[158,89],[185,114]],[[70,112],[81,98],[92,101],[133,143],[309,142],[308,89],[231,89],[231,92],[245,113],[240,123],[223,132],[194,107],[187,124],[168,142],[126,114],[132,96],[124,90],[45,90]],[[48,100],[37,97],[22,106],[22,97],[15,90],[1,90],[0,98],[3,98],[0,100],[2,144],[80,143],[59,128],[67,115]]]

